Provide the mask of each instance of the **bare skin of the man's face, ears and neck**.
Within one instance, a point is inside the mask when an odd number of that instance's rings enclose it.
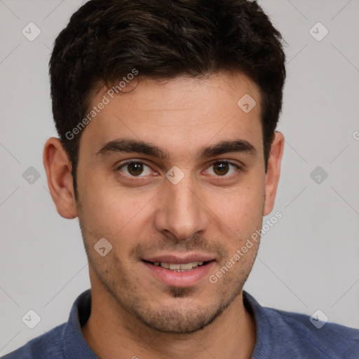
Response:
[[[284,137],[275,133],[266,172],[259,89],[243,74],[141,79],[136,85],[114,97],[81,133],[79,201],[60,141],[52,137],[44,148],[57,211],[79,217],[88,255],[93,304],[83,335],[102,359],[250,358],[255,322],[242,290],[258,243],[217,283],[205,276],[195,285],[165,285],[142,259],[201,253],[215,260],[208,275],[219,271],[273,209]],[[237,105],[246,93],[257,102],[248,114]],[[91,107],[102,95],[104,89]],[[160,147],[168,157],[98,154],[107,142],[123,138]],[[238,139],[255,153],[196,156],[203,147]],[[133,168],[121,167],[129,159],[145,164],[132,181]],[[219,160],[241,169],[213,164]],[[178,184],[165,177],[173,166],[184,174]],[[104,257],[93,247],[100,238],[112,245]]]

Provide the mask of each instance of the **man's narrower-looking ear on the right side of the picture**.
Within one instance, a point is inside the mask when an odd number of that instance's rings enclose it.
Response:
[[[283,133],[276,131],[276,133],[274,133],[274,140],[271,145],[271,154],[269,155],[268,167],[266,171],[264,216],[269,215],[269,213],[273,210],[280,177],[280,163],[282,161],[283,148]]]

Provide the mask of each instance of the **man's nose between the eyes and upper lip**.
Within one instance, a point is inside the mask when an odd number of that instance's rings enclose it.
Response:
[[[157,231],[177,240],[186,240],[195,233],[205,231],[208,208],[201,198],[201,187],[189,175],[177,184],[165,180],[158,196],[159,205],[154,219]]]

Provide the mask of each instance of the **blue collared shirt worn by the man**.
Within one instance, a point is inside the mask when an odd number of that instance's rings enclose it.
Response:
[[[257,327],[252,359],[359,358],[357,329],[334,323],[325,323],[318,329],[309,316],[264,308],[247,292],[243,292],[243,301]],[[67,323],[32,339],[3,359],[98,359],[81,332],[90,309],[91,292],[86,290],[74,302]]]

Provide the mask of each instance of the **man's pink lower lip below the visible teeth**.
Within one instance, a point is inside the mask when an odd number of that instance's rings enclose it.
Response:
[[[147,266],[153,276],[165,285],[172,287],[192,287],[196,285],[201,279],[208,276],[208,273],[215,265],[215,261],[211,261],[204,266],[196,266],[196,268],[190,271],[179,272],[165,269],[161,266],[155,266],[154,264],[144,261],[142,261],[142,263]]]

